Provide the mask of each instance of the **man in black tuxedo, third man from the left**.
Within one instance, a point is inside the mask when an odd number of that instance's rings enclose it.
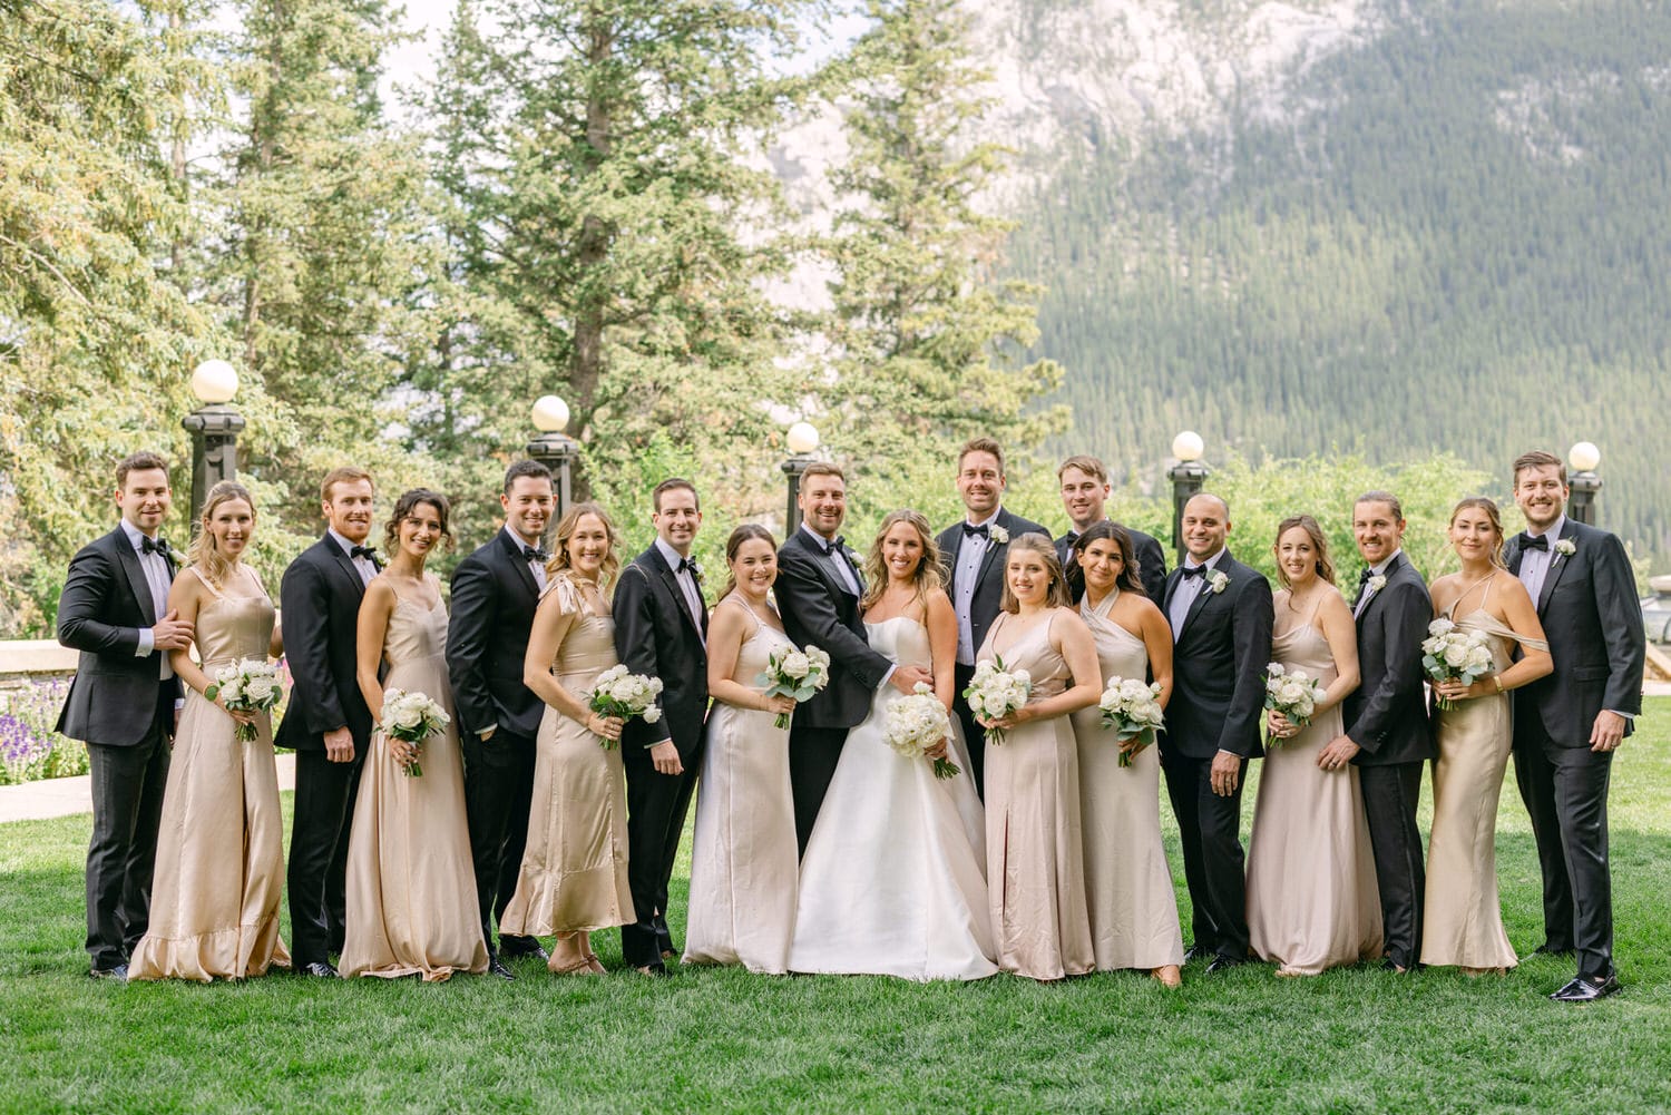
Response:
[[[501,980],[516,978],[506,958],[548,958],[531,936],[501,934],[495,948],[493,926],[516,893],[533,807],[535,737],[545,704],[523,685],[523,657],[551,557],[541,538],[553,500],[551,470],[540,461],[511,465],[500,491],[505,528],[453,570],[446,669],[465,751],[465,814],[481,938],[488,943],[488,971]]]

